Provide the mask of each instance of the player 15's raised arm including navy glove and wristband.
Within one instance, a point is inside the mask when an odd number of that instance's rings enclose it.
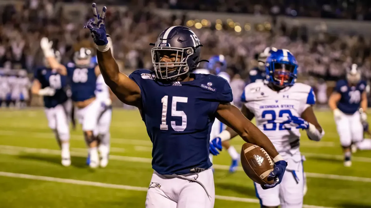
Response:
[[[92,4],[92,7],[94,18],[89,19],[84,28],[89,28],[91,31],[97,48],[99,69],[104,81],[123,103],[139,107],[141,98],[140,88],[133,80],[119,71],[119,67],[109,47],[104,24],[106,7],[103,7],[101,15],[98,14],[95,3]]]

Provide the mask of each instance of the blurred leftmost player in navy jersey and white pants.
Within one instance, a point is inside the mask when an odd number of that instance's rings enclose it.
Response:
[[[54,54],[56,60],[60,61],[59,51]],[[44,67],[35,70],[32,83],[32,94],[43,96],[45,114],[48,120],[48,126],[55,134],[59,147],[61,148],[62,165],[69,166],[71,164],[69,151],[69,121],[66,110],[70,107],[65,87],[67,78],[58,73],[55,68],[50,67],[50,64],[45,61]]]

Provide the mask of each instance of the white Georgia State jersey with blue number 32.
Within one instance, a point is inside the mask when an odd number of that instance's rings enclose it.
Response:
[[[277,92],[264,83],[251,83],[245,87],[241,100],[255,114],[256,126],[267,135],[278,152],[298,149],[299,129],[282,123],[288,120],[288,116],[300,117],[307,107],[315,104],[313,89],[309,85],[295,83]]]

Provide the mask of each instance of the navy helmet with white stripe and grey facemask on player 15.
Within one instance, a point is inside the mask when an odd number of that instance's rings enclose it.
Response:
[[[201,44],[194,32],[184,26],[162,31],[151,50],[152,63],[158,79],[174,80],[195,70],[199,65]]]

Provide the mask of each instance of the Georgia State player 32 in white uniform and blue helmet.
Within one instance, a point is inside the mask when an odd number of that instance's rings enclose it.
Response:
[[[319,125],[312,105],[313,89],[295,83],[298,64],[288,50],[273,52],[266,60],[265,82],[251,83],[245,87],[241,99],[242,113],[272,141],[282,157],[288,161],[282,183],[272,189],[263,189],[255,183],[261,207],[298,208],[303,205],[304,176],[302,155],[299,151],[300,129],[306,130],[309,139],[319,141],[325,131]],[[221,132],[221,140],[237,134],[230,128]],[[221,150],[219,147],[214,151]]]

